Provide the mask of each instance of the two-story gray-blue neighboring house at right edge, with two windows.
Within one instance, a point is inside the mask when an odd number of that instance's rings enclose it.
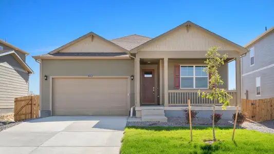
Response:
[[[274,27],[248,43],[242,56],[242,98],[274,98]]]

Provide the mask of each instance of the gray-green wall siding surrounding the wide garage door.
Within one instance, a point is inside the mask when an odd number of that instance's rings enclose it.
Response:
[[[134,60],[42,60],[42,110],[49,110],[50,81],[43,76],[131,76]],[[103,92],[103,91],[102,91]],[[131,106],[134,105],[134,80],[131,80]]]

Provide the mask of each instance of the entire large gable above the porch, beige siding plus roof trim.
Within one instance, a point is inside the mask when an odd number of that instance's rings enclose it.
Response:
[[[163,33],[131,51],[206,51],[212,46],[218,46],[220,50],[247,52],[242,46],[191,22]]]

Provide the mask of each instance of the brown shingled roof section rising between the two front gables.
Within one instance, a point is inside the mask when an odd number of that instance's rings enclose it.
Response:
[[[129,36],[115,38],[110,41],[117,44],[118,46],[125,48],[126,50],[131,50],[145,42],[150,41],[151,39],[152,38],[147,37],[147,36],[133,34],[133,35],[129,35]]]

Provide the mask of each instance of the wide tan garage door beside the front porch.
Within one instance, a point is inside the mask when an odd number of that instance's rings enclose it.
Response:
[[[53,115],[128,115],[128,79],[53,79]]]

